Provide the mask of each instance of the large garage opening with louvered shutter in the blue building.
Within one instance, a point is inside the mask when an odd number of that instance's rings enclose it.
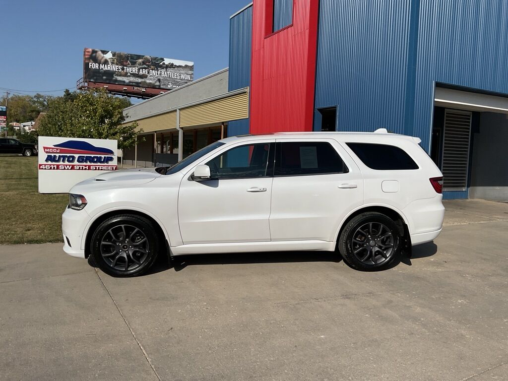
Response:
[[[508,98],[436,87],[431,157],[443,198],[508,201]]]

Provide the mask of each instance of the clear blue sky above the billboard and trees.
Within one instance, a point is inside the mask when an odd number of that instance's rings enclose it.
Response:
[[[85,47],[194,61],[203,77],[228,66],[229,16],[248,3],[0,0],[0,96],[76,86]]]

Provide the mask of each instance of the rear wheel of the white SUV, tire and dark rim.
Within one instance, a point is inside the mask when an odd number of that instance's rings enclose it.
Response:
[[[395,222],[382,213],[366,212],[349,221],[337,243],[344,261],[361,271],[384,270],[401,260],[402,237]]]

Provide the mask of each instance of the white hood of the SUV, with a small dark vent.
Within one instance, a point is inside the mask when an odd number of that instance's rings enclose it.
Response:
[[[161,174],[155,172],[153,168],[105,172],[74,185],[70,193],[82,194],[87,190],[93,192],[108,188],[128,188],[146,184],[160,176]]]

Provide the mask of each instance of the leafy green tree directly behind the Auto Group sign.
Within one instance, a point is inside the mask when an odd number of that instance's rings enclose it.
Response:
[[[39,135],[67,138],[116,139],[118,148],[136,143],[137,123],[125,124],[123,109],[131,106],[126,98],[105,89],[67,92],[49,102],[41,119]]]

